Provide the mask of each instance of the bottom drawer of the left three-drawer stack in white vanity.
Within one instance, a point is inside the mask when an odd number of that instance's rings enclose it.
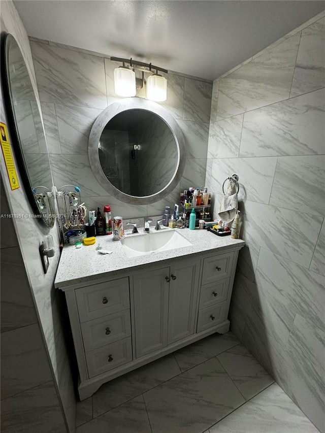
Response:
[[[89,378],[132,361],[131,337],[86,353]]]

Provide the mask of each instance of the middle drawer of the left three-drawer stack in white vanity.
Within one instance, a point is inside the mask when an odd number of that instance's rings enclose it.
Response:
[[[131,336],[130,311],[123,310],[81,324],[85,351]]]

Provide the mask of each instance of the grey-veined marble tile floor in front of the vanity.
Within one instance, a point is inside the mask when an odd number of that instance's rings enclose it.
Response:
[[[76,433],[318,433],[231,333],[214,334],[101,386]]]

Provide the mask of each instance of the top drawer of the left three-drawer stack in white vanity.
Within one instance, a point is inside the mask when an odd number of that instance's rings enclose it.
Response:
[[[76,290],[80,322],[129,308],[128,278],[94,284]]]

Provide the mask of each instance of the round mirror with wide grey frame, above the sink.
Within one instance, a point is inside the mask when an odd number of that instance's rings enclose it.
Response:
[[[176,187],[184,171],[185,144],[173,116],[139,98],[113,103],[96,119],[88,155],[96,179],[129,204],[150,204]]]

